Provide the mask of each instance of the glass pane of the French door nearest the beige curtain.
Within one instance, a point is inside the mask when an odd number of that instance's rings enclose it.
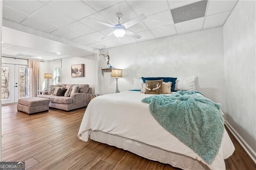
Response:
[[[19,68],[19,98],[29,97],[28,68]]]

